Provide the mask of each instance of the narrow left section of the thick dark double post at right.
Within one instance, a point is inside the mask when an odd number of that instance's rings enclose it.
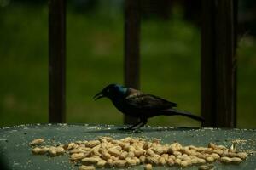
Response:
[[[214,4],[213,0],[201,3],[201,116],[204,127],[216,127]]]

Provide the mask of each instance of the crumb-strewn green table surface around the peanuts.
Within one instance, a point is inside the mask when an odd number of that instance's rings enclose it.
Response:
[[[45,144],[67,144],[77,140],[97,139],[110,136],[114,139],[125,137],[142,137],[161,139],[161,144],[178,141],[183,145],[207,147],[209,142],[230,147],[233,140],[241,139],[238,150],[256,149],[256,130],[220,129],[220,128],[186,128],[186,127],[143,127],[141,132],[124,132],[113,125],[88,124],[36,124],[0,128],[0,151],[2,163],[7,169],[78,169],[68,161],[68,156],[34,156],[29,143],[32,139],[43,138]],[[215,162],[215,169],[256,169],[256,156],[252,154],[239,165],[225,165]],[[2,168],[3,169],[3,168]],[[130,169],[143,169],[143,166]],[[154,167],[154,169],[181,169],[181,167]],[[198,169],[198,166],[185,168]]]

